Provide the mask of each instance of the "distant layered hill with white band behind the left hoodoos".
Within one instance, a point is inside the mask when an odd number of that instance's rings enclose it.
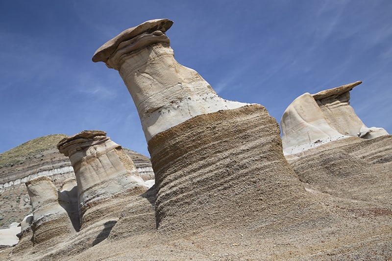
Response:
[[[38,176],[49,176],[61,190],[63,183],[75,178],[71,161],[57,149],[57,143],[68,137],[54,134],[25,142],[0,153],[0,228],[12,222],[21,222],[31,213],[30,199],[25,182]],[[148,157],[123,148],[132,159],[143,180],[152,180],[154,171]]]

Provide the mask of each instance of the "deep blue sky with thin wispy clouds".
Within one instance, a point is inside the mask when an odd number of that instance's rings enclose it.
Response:
[[[0,152],[31,139],[99,129],[149,155],[117,71],[95,50],[157,18],[176,60],[225,99],[280,121],[303,93],[362,80],[351,105],[392,133],[391,0],[0,1]]]

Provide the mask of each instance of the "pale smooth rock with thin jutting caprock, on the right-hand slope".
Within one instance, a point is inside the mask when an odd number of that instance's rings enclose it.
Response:
[[[383,128],[368,128],[350,106],[350,91],[361,83],[297,97],[280,121],[284,152],[293,154],[350,136],[372,139],[388,135]]]

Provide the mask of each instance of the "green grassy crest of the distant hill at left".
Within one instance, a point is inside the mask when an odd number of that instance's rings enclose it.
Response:
[[[55,148],[57,143],[68,137],[65,134],[53,134],[25,142],[0,154],[0,166],[18,163],[47,149]]]

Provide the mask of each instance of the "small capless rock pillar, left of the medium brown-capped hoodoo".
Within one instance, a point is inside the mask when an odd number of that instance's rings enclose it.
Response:
[[[39,176],[26,182],[33,209],[34,244],[45,242],[54,245],[75,233],[66,211],[68,206],[59,200],[59,191],[47,176]]]

